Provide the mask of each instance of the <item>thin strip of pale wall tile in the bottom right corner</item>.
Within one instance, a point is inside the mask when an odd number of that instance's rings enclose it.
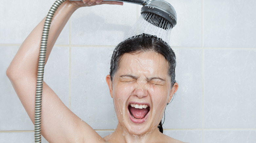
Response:
[[[256,143],[255,130],[204,130],[205,143]]]

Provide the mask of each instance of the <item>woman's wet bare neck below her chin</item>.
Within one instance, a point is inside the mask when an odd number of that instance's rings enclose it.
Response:
[[[134,135],[129,133],[124,127],[122,127],[118,123],[117,129],[115,130],[115,132],[104,137],[104,139],[108,142],[149,143],[149,142],[154,142],[154,140],[156,139],[157,141],[159,141],[159,137],[161,135],[163,134],[159,132],[157,127],[145,134]]]

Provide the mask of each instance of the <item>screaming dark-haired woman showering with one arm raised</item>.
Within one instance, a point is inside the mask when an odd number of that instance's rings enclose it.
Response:
[[[66,1],[56,11],[50,28],[46,61],[72,13],[80,7],[121,2]],[[43,19],[22,43],[6,73],[34,123],[37,61]],[[163,47],[163,48],[162,48]],[[162,49],[162,50],[159,50]],[[44,83],[42,135],[49,142],[181,142],[162,134],[158,125],[167,103],[178,89],[175,55],[160,39],[142,34],[121,42],[113,53],[106,81],[114,101],[118,125],[102,138],[71,112]]]

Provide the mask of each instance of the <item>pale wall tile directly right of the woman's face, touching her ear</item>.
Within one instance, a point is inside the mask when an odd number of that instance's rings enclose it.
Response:
[[[164,129],[202,128],[202,50],[174,49],[178,91],[165,110]]]

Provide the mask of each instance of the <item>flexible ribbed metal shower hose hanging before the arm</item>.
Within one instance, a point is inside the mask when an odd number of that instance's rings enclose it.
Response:
[[[41,111],[42,111],[42,91],[43,91],[43,78],[47,40],[49,35],[50,25],[53,20],[53,15],[57,8],[67,0],[56,0],[50,8],[43,27],[41,46],[39,52],[37,80],[36,80],[36,93],[35,93],[35,143],[41,143]]]

